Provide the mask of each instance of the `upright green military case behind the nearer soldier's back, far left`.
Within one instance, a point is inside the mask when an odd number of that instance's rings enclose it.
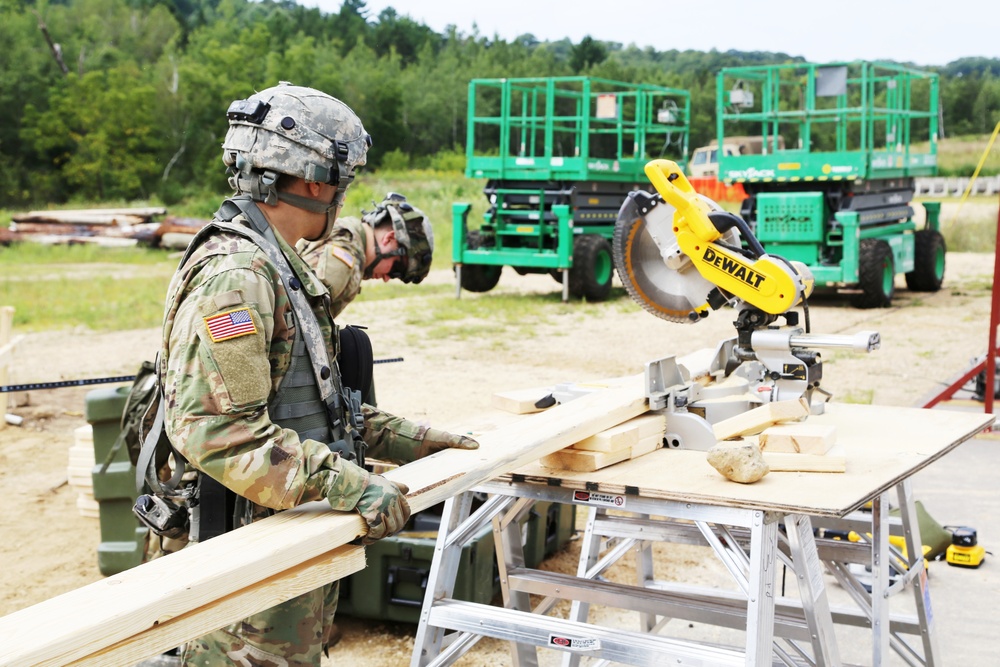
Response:
[[[135,503],[135,467],[121,447],[102,471],[118,434],[130,387],[103,388],[88,392],[85,416],[94,430],[94,460],[91,471],[94,499],[99,506],[101,543],[97,565],[101,574],[112,575],[142,562],[146,528],[132,513]]]

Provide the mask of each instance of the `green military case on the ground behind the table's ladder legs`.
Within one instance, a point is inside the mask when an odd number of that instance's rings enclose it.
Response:
[[[537,502],[521,523],[527,567],[536,567],[566,546],[575,528],[576,507]],[[367,565],[340,582],[339,616],[417,623],[434,560],[440,515],[434,508],[414,515],[413,530],[367,547]],[[493,529],[485,526],[462,547],[453,598],[490,604],[500,592]]]

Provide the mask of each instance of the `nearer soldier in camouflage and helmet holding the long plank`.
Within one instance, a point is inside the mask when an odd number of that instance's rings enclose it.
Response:
[[[236,494],[233,527],[326,499],[359,512],[371,543],[403,528],[410,509],[407,489],[354,462],[364,444],[400,462],[478,445],[428,439],[425,427],[371,407],[362,421],[330,362],[329,293],[293,248],[333,228],[371,143],[361,121],[339,100],[288,84],[234,102],[228,117],[223,160],[236,196],[192,243],[167,296],[166,433],[205,485],[201,530],[205,489],[218,483]],[[189,642],[183,662],[318,666],[337,594],[329,584]]]

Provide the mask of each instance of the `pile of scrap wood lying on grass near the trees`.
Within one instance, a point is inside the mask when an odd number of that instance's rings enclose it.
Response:
[[[208,221],[194,218],[156,216],[167,209],[97,208],[29,211],[11,216],[10,229],[3,235],[6,244],[32,241],[45,244],[93,243],[104,246],[186,247],[187,242]]]

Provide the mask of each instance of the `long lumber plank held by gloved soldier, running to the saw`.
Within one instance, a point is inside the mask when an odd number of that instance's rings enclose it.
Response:
[[[647,407],[642,376],[635,376],[621,387],[483,433],[477,436],[476,451],[446,450],[386,476],[410,488],[410,506],[419,512],[643,414]],[[109,664],[100,657],[108,647],[153,645],[150,637],[171,619],[294,570],[364,532],[360,516],[334,512],[325,502],[281,512],[0,618],[5,638],[0,665]],[[248,596],[241,614],[256,613],[275,601]],[[185,639],[215,627],[192,624]]]

